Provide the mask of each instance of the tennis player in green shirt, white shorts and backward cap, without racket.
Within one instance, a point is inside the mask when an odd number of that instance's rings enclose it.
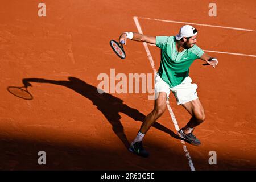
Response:
[[[155,76],[154,110],[146,116],[137,137],[129,150],[137,155],[147,157],[149,153],[142,146],[142,139],[152,124],[166,110],[166,101],[170,92],[174,93],[177,104],[182,105],[192,115],[187,125],[178,131],[178,135],[189,143],[199,146],[200,140],[193,135],[193,130],[205,120],[204,108],[197,97],[197,85],[192,84],[189,67],[196,59],[206,61],[213,68],[218,64],[216,58],[210,57],[196,45],[197,30],[185,25],[176,36],[146,36],[137,32],[123,32],[119,41],[127,39],[156,44],[161,50],[161,62]]]

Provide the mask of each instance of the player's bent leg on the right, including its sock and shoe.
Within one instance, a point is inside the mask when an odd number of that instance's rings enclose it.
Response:
[[[179,136],[187,139],[191,144],[199,146],[201,144],[200,140],[193,135],[193,130],[196,126],[200,125],[205,120],[204,108],[201,105],[200,100],[187,102],[182,105],[188,112],[192,115],[192,118],[189,120],[187,125],[180,129],[178,132]]]

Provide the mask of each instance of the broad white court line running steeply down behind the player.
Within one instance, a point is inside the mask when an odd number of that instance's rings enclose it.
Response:
[[[134,22],[135,22],[135,24],[136,24],[136,27],[137,27],[139,33],[140,33],[140,34],[143,34],[142,29],[141,29],[141,25],[139,24],[139,21],[138,21],[138,17],[134,16],[133,19],[134,19]],[[146,50],[146,52],[147,52],[147,57],[148,57],[148,60],[150,60],[151,67],[152,67],[154,73],[156,73],[155,63],[154,63],[154,60],[152,59],[152,56],[151,56],[150,50],[148,49],[147,43],[143,42],[143,46],[144,46],[144,48],[145,48],[145,50]],[[179,125],[178,125],[178,123],[177,123],[177,120],[176,120],[176,118],[175,118],[174,113],[172,112],[172,109],[171,109],[171,106],[170,106],[169,101],[167,101],[167,107],[168,107],[169,113],[170,113],[170,115],[171,115],[172,122],[174,122],[175,129],[176,129],[177,131],[179,131]],[[194,165],[193,165],[192,159],[191,159],[191,157],[190,157],[190,155],[189,155],[189,152],[188,152],[188,150],[187,150],[187,146],[186,146],[185,142],[184,142],[183,140],[180,140],[180,142],[181,142],[182,145],[183,145],[183,150],[184,150],[185,155],[186,155],[186,157],[187,157],[187,159],[188,159],[188,165],[189,165],[189,167],[191,168],[191,171],[195,171],[195,167],[194,167]]]

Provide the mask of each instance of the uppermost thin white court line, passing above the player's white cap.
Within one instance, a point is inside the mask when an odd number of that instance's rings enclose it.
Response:
[[[181,24],[195,24],[199,26],[205,26],[205,27],[217,27],[217,28],[226,28],[226,29],[233,29],[233,30],[242,30],[242,31],[254,31],[251,29],[245,29],[245,28],[236,28],[236,27],[224,27],[224,26],[217,26],[217,25],[212,25],[212,24],[201,24],[201,23],[191,23],[191,22],[178,22],[178,21],[173,21],[173,20],[164,20],[164,19],[155,19],[155,18],[144,18],[144,17],[139,17],[141,19],[149,19],[149,20],[155,20],[159,22],[169,22],[169,23],[181,23]]]

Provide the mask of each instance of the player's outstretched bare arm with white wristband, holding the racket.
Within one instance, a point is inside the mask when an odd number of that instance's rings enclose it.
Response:
[[[146,36],[143,34],[139,34],[137,32],[123,32],[119,37],[119,42],[122,40],[125,41],[125,45],[127,42],[127,39],[139,41],[139,42],[147,42],[151,44],[156,44],[156,38],[155,36]]]

